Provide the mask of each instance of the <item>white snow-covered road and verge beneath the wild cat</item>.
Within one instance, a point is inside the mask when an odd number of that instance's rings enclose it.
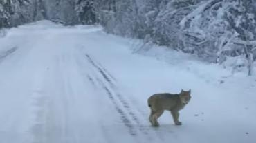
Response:
[[[256,142],[256,78],[99,27],[40,21],[0,38],[1,143]],[[138,48],[137,48],[138,49]],[[192,89],[182,126],[147,98]]]

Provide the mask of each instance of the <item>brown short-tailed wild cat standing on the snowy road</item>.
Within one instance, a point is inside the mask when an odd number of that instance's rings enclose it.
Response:
[[[157,119],[162,115],[163,111],[167,110],[172,113],[172,118],[176,125],[181,125],[179,121],[179,111],[185,107],[186,104],[190,101],[190,93],[189,91],[181,90],[179,94],[154,94],[150,96],[147,100],[148,105],[151,109],[151,113],[149,115],[149,121],[152,126],[159,126]]]

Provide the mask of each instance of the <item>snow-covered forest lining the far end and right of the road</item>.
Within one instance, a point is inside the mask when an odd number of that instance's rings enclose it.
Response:
[[[1,0],[0,29],[48,19],[163,45],[253,72],[255,0]]]

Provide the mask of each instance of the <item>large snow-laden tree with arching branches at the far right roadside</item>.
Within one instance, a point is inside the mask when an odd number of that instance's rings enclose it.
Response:
[[[183,48],[214,63],[222,63],[230,56],[244,56],[250,75],[256,56],[253,56],[253,45],[250,44],[256,35],[254,7],[250,0],[199,3],[180,22]]]

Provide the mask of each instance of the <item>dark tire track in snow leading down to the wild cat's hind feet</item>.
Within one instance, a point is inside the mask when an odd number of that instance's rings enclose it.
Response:
[[[148,135],[149,133],[145,126],[143,126],[142,122],[140,121],[140,118],[138,118],[138,115],[136,115],[136,113],[132,111],[132,109],[134,108],[131,108],[129,102],[124,98],[125,96],[118,92],[116,85],[113,83],[113,80],[116,80],[116,78],[111,76],[111,74],[107,72],[107,69],[102,67],[100,63],[96,63],[95,61],[93,61],[91,56],[89,56],[88,54],[86,54],[86,58],[87,61],[89,61],[89,63],[91,63],[91,65],[93,65],[93,67],[95,67],[95,69],[98,70],[100,75],[109,84],[110,88],[108,88],[108,86],[105,85],[104,82],[100,80],[100,78],[97,78],[97,82],[100,84],[102,89],[104,89],[104,91],[107,93],[107,95],[111,99],[111,102],[114,104],[116,110],[120,114],[122,122],[125,124],[125,126],[128,127],[129,133],[131,135],[138,135],[139,132],[143,133],[144,135]],[[92,80],[92,78],[89,78],[89,80]],[[95,83],[95,81],[91,82]],[[135,110],[137,111],[138,109]],[[136,126],[134,124],[136,124]]]

